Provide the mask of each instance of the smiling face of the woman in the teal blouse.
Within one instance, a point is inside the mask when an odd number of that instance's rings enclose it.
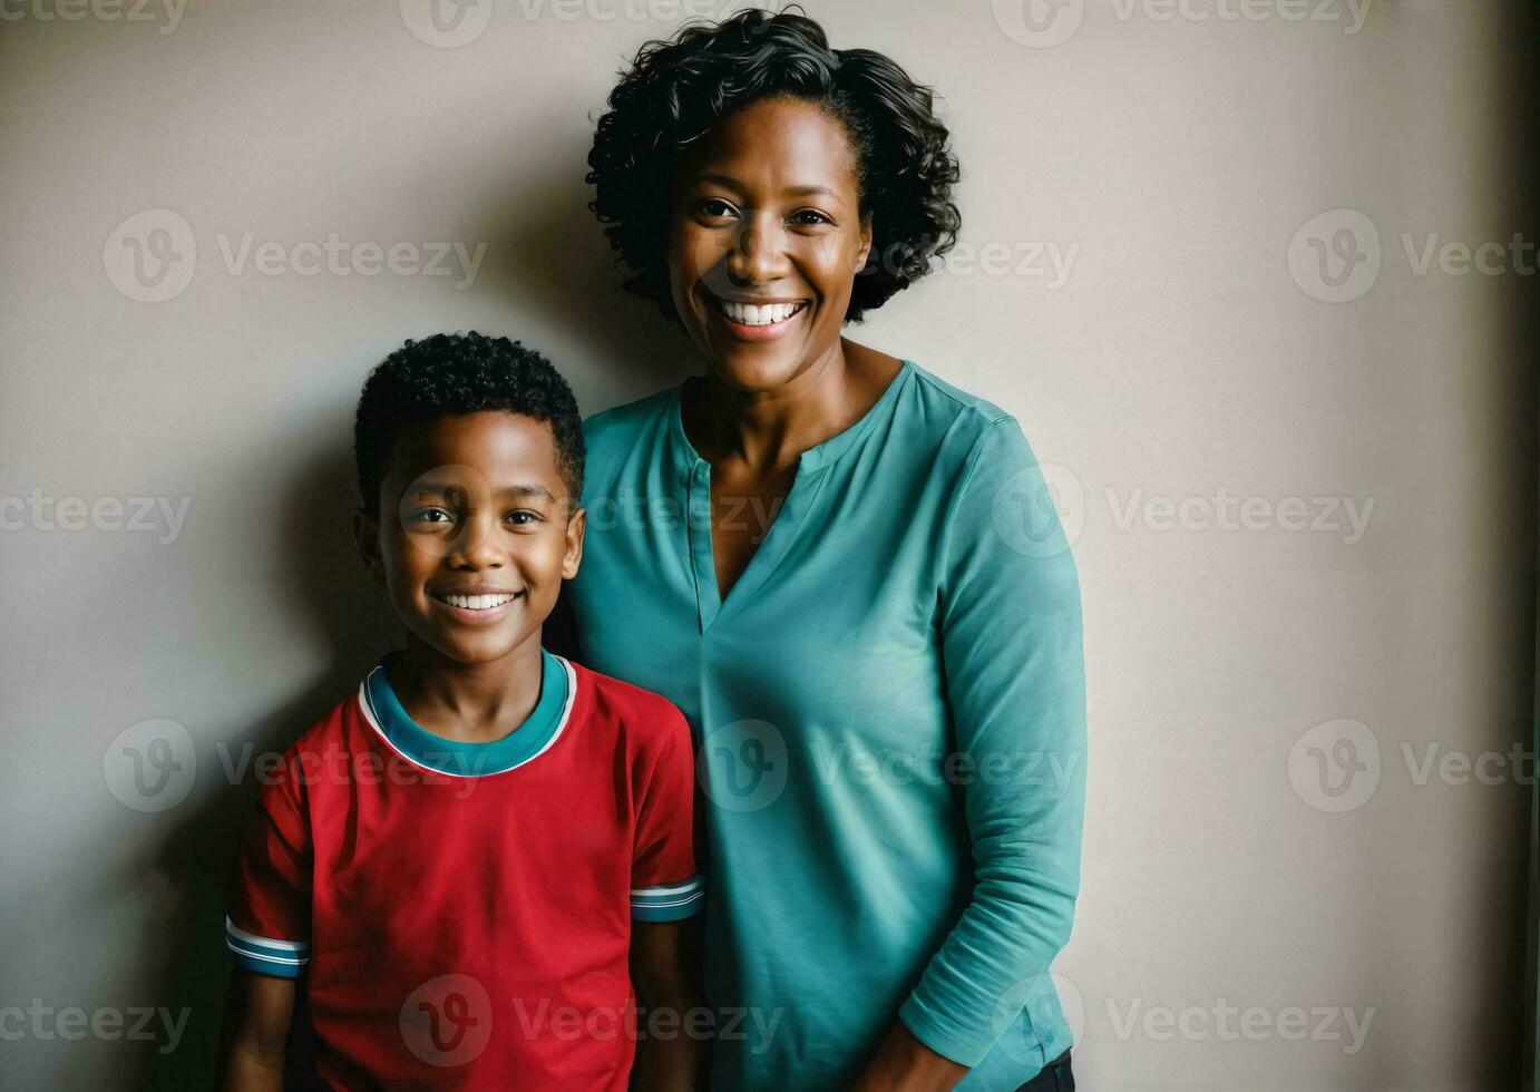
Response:
[[[850,137],[815,103],[759,99],[679,162],[670,291],[732,388],[781,387],[839,343],[870,246]]]

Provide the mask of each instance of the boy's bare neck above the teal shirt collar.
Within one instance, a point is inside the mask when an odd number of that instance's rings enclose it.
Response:
[[[541,630],[507,656],[464,664],[407,635],[385,678],[407,715],[425,732],[456,742],[482,744],[511,735],[541,701]]]

